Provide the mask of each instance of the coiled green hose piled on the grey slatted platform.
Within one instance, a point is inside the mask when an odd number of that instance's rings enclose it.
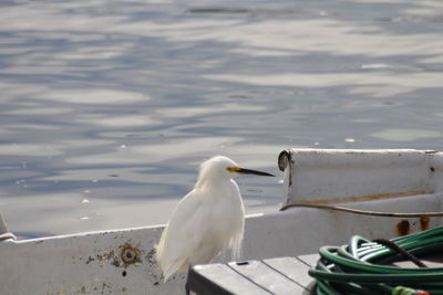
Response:
[[[443,228],[390,241],[418,257],[443,254]],[[348,245],[322,246],[319,254],[317,266],[309,271],[317,280],[318,295],[443,295],[443,267],[394,266],[404,260],[401,253],[359,235]]]

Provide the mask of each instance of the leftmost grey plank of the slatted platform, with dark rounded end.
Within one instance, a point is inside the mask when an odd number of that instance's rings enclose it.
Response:
[[[219,263],[194,266],[189,271],[186,285],[198,295],[271,294],[228,265]]]

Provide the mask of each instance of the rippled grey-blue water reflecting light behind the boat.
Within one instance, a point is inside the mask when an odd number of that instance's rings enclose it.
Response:
[[[288,147],[443,150],[443,2],[2,1],[0,211],[39,236],[163,223],[216,154],[248,212]]]

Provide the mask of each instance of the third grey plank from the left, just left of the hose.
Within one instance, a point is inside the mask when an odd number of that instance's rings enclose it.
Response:
[[[312,277],[309,276],[309,266],[297,260],[296,257],[276,257],[264,260],[264,263],[277,270],[282,275],[297,282],[305,289],[310,291]]]

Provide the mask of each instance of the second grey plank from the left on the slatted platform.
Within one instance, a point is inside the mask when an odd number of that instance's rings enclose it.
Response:
[[[272,294],[298,294],[303,287],[261,261],[231,262],[233,270]]]

